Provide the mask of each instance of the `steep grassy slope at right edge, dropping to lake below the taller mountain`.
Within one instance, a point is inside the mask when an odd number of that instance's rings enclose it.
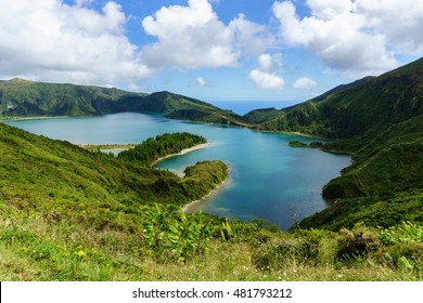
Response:
[[[323,189],[330,198],[392,196],[423,188],[423,117],[394,124],[355,153],[355,163]],[[342,145],[342,144],[341,144]]]

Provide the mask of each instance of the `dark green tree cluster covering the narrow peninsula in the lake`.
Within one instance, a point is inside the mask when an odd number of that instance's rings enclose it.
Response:
[[[162,157],[178,154],[182,149],[204,143],[207,143],[207,140],[201,135],[188,132],[165,133],[155,139],[150,137],[132,149],[121,152],[117,158],[145,166]]]

